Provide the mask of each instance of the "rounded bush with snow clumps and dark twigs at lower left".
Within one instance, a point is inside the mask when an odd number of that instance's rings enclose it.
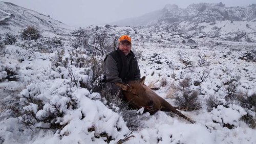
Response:
[[[20,122],[33,128],[59,129],[64,113],[68,109],[77,108],[76,99],[72,95],[74,90],[67,82],[55,79],[48,85],[31,83],[22,90],[20,101],[23,102],[24,111],[19,117]]]

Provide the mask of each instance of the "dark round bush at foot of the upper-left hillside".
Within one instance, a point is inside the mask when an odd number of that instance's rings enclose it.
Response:
[[[28,26],[22,31],[21,36],[26,40],[37,40],[41,36],[41,32],[34,26]]]

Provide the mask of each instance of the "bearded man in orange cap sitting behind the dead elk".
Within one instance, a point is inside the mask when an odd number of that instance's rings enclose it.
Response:
[[[132,39],[127,35],[120,37],[118,49],[104,59],[105,88],[111,94],[118,94],[122,98],[121,89],[115,82],[127,83],[140,80],[140,69],[132,49]]]

